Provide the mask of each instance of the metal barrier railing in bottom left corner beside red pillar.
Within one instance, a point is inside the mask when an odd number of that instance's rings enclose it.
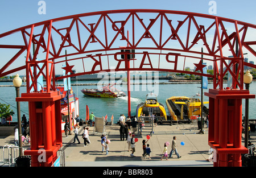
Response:
[[[22,149],[24,152],[26,149]],[[0,164],[1,166],[7,164],[8,167],[15,166],[15,158],[19,156],[19,147],[14,145],[5,145],[0,147]]]

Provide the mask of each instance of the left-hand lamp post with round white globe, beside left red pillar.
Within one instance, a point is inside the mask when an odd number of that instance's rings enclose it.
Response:
[[[18,98],[19,97],[19,88],[22,84],[22,79],[19,77],[19,74],[16,74],[16,76],[14,77],[13,84],[16,89],[16,98]],[[19,132],[19,156],[22,156],[23,155],[23,152],[22,152],[22,128],[21,128],[19,101],[17,101],[16,104],[17,104],[18,132]]]

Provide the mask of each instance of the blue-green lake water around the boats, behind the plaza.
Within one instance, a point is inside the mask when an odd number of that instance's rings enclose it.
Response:
[[[72,81],[72,84],[85,84],[85,83],[98,83],[99,81]],[[134,83],[138,81],[133,81]],[[141,81],[143,82],[143,81]],[[152,81],[154,82],[154,81]],[[157,81],[158,82],[158,81]],[[159,80],[159,82],[168,82],[168,80]],[[13,85],[12,82],[0,82],[0,85]],[[131,115],[135,115],[137,105],[144,102],[146,94],[154,92],[158,95],[158,101],[166,107],[166,99],[172,96],[196,96],[196,93],[201,92],[199,88],[201,84],[168,84],[168,85],[131,85]],[[123,90],[127,94],[127,85],[118,84],[115,86],[117,89]],[[225,84],[224,84],[224,87]],[[114,114],[114,123],[119,119],[120,114],[127,116],[127,96],[119,98],[94,98],[84,96],[81,93],[83,88],[97,88],[96,85],[76,85],[72,86],[73,92],[76,93],[76,97],[79,98],[79,113],[80,118],[86,117],[86,105],[89,106],[89,112],[93,111],[96,117],[102,117],[108,114],[110,120],[112,114]],[[208,88],[213,88],[213,84],[209,84]],[[208,92],[208,89],[204,89],[204,92]],[[0,87],[0,102],[3,104],[10,104],[11,109],[14,111],[13,121],[17,121],[16,116],[16,102],[15,102],[15,88],[14,86]],[[26,93],[26,87],[20,88],[20,93]],[[250,84],[250,93],[256,94],[256,82],[253,81]],[[201,98],[201,97],[199,97]],[[207,96],[204,96],[204,101],[209,101]],[[245,110],[245,100],[243,104],[243,115]],[[208,107],[208,105],[206,105]],[[256,116],[256,100],[249,100],[249,119],[255,119]],[[28,103],[20,102],[21,114],[25,114],[27,119],[28,115]],[[166,107],[168,113],[168,109]]]

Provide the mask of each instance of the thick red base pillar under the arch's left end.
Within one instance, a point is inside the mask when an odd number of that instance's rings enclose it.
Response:
[[[24,155],[31,155],[33,167],[51,166],[62,146],[59,91],[49,93],[22,93],[16,101],[27,101],[30,112],[31,146]]]

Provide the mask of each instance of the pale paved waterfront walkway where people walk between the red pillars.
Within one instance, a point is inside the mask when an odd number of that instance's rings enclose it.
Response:
[[[208,146],[208,129],[204,134],[199,134],[197,126],[191,124],[177,125],[159,125],[154,127],[154,134],[146,144],[150,144],[151,160],[142,158],[142,140],[150,134],[151,127],[143,129],[142,135],[136,135],[138,142],[135,147],[135,157],[131,158],[131,151],[127,150],[126,140],[121,141],[119,138],[119,126],[106,126],[107,138],[111,141],[109,144],[109,155],[102,152],[101,133],[93,135],[93,127],[89,127],[89,146],[84,147],[81,138],[82,127],[79,129],[79,139],[81,144],[72,143],[74,135],[65,137],[63,134],[63,150],[65,151],[66,167],[131,167],[131,166],[208,166],[212,167],[213,163],[208,162],[209,158]],[[180,159],[176,155],[168,160],[160,160],[163,155],[164,143],[172,142],[173,136],[176,136],[177,151],[181,156]],[[251,142],[256,144],[256,133],[251,132]],[[242,140],[243,141],[243,140]],[[0,136],[0,145],[13,144],[14,135]],[[184,145],[181,145],[184,142]],[[242,143],[243,144],[243,143]],[[171,151],[171,144],[168,146],[168,154]]]

